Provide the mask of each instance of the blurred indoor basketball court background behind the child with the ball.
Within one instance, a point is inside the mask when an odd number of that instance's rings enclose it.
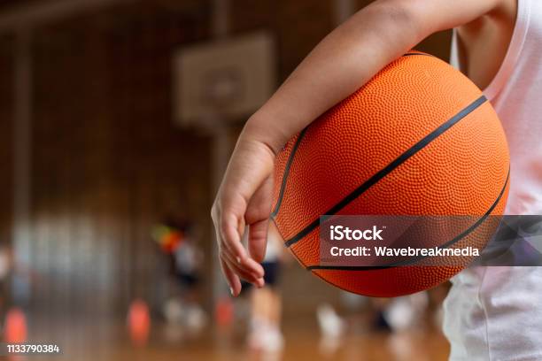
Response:
[[[217,262],[209,214],[244,121],[368,3],[2,1],[0,330],[62,355],[0,358],[447,359],[448,284],[355,296],[279,247],[273,286],[233,299]]]

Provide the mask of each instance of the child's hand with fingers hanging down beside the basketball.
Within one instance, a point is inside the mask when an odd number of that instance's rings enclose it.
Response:
[[[241,291],[239,277],[262,287],[267,226],[271,213],[275,150],[244,130],[229,161],[213,204],[213,223],[222,273],[231,294]],[[249,227],[248,252],[242,238]]]

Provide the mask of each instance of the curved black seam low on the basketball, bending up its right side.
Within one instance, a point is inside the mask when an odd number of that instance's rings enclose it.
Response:
[[[439,249],[445,249],[448,247],[453,246],[453,244],[460,242],[463,238],[468,236],[468,234],[471,234],[476,230],[477,227],[479,227],[482,223],[484,223],[484,220],[487,219],[491,214],[492,211],[497,207],[497,205],[500,202],[500,199],[504,195],[505,191],[507,190],[508,181],[510,180],[510,170],[508,169],[507,174],[507,180],[505,181],[504,187],[500,190],[499,196],[497,196],[497,199],[492,204],[492,206],[489,208],[488,211],[484,213],[484,216],[480,217],[480,219],[477,219],[476,222],[468,227],[465,231],[463,231],[461,234],[454,237],[451,241],[445,242],[441,244],[440,246],[437,246]],[[411,259],[406,259],[404,261],[399,261],[397,263],[392,263],[390,265],[376,265],[376,266],[363,266],[363,265],[309,265],[306,267],[307,270],[345,270],[345,271],[369,271],[369,270],[383,270],[386,268],[394,268],[394,267],[401,267],[406,265],[413,265],[416,262],[427,258],[430,256],[419,256],[414,257]]]

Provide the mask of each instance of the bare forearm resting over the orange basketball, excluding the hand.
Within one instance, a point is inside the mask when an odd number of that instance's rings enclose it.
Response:
[[[379,0],[326,36],[247,122],[242,139],[276,152],[426,36],[467,23],[502,0]]]

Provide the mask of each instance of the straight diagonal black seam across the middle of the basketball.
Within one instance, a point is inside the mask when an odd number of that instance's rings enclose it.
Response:
[[[395,168],[397,168],[399,165],[402,165],[406,162],[410,157],[413,157],[414,154],[425,148],[430,142],[433,142],[435,139],[438,138],[441,134],[444,134],[445,131],[453,127],[455,124],[457,124],[461,119],[465,118],[470,114],[471,112],[475,111],[480,105],[484,104],[487,101],[485,96],[480,96],[477,98],[474,102],[471,104],[468,104],[466,108],[455,114],[451,119],[448,119],[445,121],[444,124],[442,124],[440,127],[437,127],[434,131],[432,131],[430,134],[426,135],[422,138],[421,141],[415,143],[409,150],[406,150],[403,154],[401,154],[399,157],[395,158],[389,165],[386,165],[383,169],[375,173],[371,178],[369,178],[366,182],[360,185],[360,187],[354,189],[352,193],[350,193],[348,196],[345,196],[339,203],[335,204],[331,209],[326,211],[324,214],[326,216],[332,216],[337,213],[337,211],[342,210],[345,208],[346,205],[350,204],[353,200],[355,200],[358,196],[360,196],[362,193],[364,193],[368,188],[371,188],[378,182],[379,180],[382,180],[386,175],[391,173]],[[306,236],[306,234],[311,233],[314,228],[318,227],[320,224],[320,218],[314,219],[313,222],[311,222],[308,226],[306,226],[303,230],[301,230],[298,234],[294,235],[290,240],[284,242],[284,245],[286,247],[290,247],[295,242],[298,242],[303,237]]]

